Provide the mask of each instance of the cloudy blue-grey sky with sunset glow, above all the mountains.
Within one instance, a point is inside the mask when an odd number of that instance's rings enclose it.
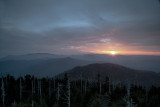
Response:
[[[0,0],[0,56],[160,55],[159,0]]]

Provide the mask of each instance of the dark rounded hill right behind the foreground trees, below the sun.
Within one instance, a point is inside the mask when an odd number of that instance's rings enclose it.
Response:
[[[134,70],[111,63],[90,64],[87,66],[75,67],[57,75],[56,78],[63,78],[65,74],[67,74],[71,80],[82,79],[92,82],[100,78],[100,80],[104,82],[106,77],[109,77],[113,84],[131,82],[137,85],[160,86],[160,73]]]

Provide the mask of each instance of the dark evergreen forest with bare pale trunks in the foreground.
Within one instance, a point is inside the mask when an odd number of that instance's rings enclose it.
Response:
[[[160,87],[97,80],[0,78],[1,107],[160,107]]]

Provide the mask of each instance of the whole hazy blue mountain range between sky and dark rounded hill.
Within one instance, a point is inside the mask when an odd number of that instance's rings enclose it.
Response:
[[[13,76],[53,77],[76,66],[92,63],[114,63],[133,69],[160,72],[160,56],[143,55],[56,55],[34,53],[26,55],[10,55],[0,59],[0,74]]]

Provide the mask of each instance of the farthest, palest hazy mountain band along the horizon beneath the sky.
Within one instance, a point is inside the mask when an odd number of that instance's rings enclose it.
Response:
[[[0,59],[6,60],[44,60],[70,57],[77,60],[93,63],[114,63],[133,69],[160,72],[160,56],[151,55],[107,55],[107,54],[82,54],[82,55],[56,55],[49,53],[33,53],[26,55],[10,55]]]

